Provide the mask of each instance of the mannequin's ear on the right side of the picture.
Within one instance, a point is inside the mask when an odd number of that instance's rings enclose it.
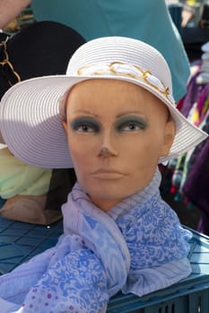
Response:
[[[164,143],[161,148],[161,157],[167,157],[170,153],[173,140],[176,135],[176,125],[173,121],[169,121],[165,125]]]

